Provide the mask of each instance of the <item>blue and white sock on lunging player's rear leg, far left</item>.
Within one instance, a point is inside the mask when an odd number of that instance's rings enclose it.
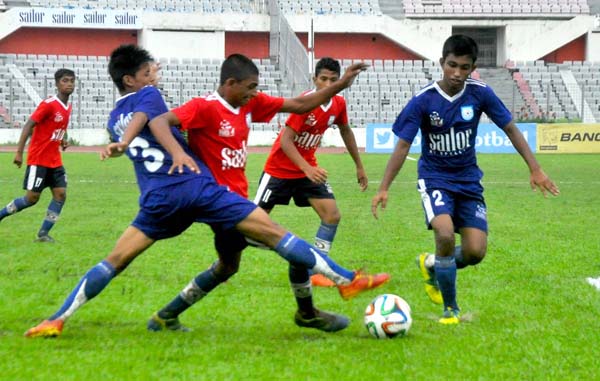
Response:
[[[79,307],[98,295],[115,277],[115,269],[107,261],[92,267],[71,291],[64,304],[48,320],[68,319]]]

